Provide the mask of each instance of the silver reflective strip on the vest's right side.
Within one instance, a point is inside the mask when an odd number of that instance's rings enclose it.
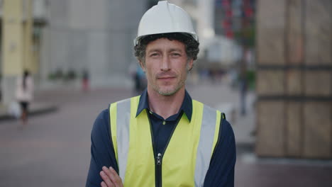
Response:
[[[214,130],[216,129],[216,110],[204,105],[203,118],[201,120],[201,137],[197,147],[195,167],[195,186],[203,186],[206,172],[209,169],[211,152],[214,142]]]

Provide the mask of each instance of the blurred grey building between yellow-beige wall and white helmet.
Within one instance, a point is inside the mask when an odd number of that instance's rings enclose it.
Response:
[[[130,86],[133,39],[148,1],[49,0],[41,79],[86,70],[92,87]]]

